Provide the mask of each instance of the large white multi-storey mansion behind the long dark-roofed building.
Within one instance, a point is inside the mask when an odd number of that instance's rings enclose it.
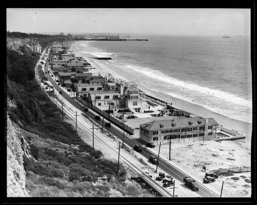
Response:
[[[108,76],[88,76],[83,83],[76,83],[76,96],[88,102],[88,106],[100,109],[128,108],[142,112],[145,93],[135,83],[117,83]]]

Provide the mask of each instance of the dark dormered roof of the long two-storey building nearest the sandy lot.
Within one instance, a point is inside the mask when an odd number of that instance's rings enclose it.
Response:
[[[216,125],[217,122],[213,118],[208,119],[208,126],[209,125]],[[194,127],[200,126],[198,121],[201,121],[200,125],[205,126],[205,118],[200,117],[178,117],[173,120],[171,119],[164,119],[164,120],[154,120],[152,122],[148,122],[145,124],[141,124],[140,126],[143,128],[147,128],[148,130],[166,130],[166,129],[174,129],[174,128],[187,128],[187,127]],[[189,122],[192,122],[192,125],[189,125]]]

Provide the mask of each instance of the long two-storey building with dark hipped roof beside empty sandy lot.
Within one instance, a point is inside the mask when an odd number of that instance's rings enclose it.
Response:
[[[216,138],[217,122],[213,118],[178,117],[154,120],[140,125],[140,139],[158,145],[175,142],[211,140]]]

